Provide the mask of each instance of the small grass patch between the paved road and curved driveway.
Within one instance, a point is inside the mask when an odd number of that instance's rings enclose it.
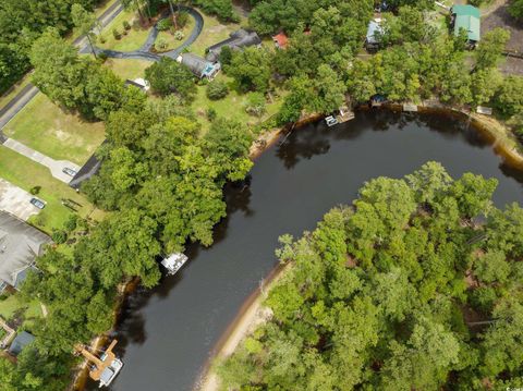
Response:
[[[129,24],[132,26],[130,30],[127,30],[126,35],[123,35],[123,22],[127,21]],[[122,37],[120,39],[114,38],[112,35],[113,29],[118,29]],[[132,51],[139,49],[142,45],[145,44],[147,36],[149,34],[150,28],[143,28],[139,25],[138,16],[132,11],[122,11],[114,20],[109,23],[102,30],[101,37],[106,40],[104,44],[98,37],[96,46],[104,48],[104,49],[112,49],[119,51]]]

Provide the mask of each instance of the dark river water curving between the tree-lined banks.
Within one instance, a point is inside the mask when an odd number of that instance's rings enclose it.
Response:
[[[111,390],[190,391],[242,303],[275,267],[279,235],[314,229],[330,208],[350,204],[364,181],[400,178],[428,160],[453,178],[497,178],[497,206],[522,197],[521,173],[455,120],[360,112],[343,125],[295,130],[256,160],[248,187],[227,188],[228,217],[215,244],[192,246],[177,276],[127,298],[115,335],[125,365]]]

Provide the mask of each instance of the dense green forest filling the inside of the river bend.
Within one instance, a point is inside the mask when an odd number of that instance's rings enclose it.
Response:
[[[522,387],[523,209],[494,207],[496,184],[428,162],[281,236],[272,315],[220,364],[222,389]]]

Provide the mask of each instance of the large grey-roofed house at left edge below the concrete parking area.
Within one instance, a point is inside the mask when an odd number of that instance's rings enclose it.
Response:
[[[8,286],[20,288],[49,243],[51,239],[44,232],[0,211],[0,293]]]

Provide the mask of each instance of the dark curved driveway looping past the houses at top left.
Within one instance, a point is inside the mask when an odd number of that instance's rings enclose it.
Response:
[[[204,17],[202,14],[193,8],[180,5],[181,11],[187,12],[190,15],[194,17],[195,26],[191,32],[187,39],[185,39],[182,45],[178,48],[172,49],[170,51],[166,51],[163,53],[153,53],[150,49],[155,45],[155,40],[158,37],[158,22],[153,26],[147,39],[145,40],[144,45],[137,50],[133,51],[118,51],[118,50],[110,50],[110,49],[100,49],[95,47],[95,51],[97,54],[105,53],[109,58],[113,59],[134,59],[134,60],[145,60],[145,61],[159,61],[161,57],[169,57],[171,59],[177,59],[180,53],[191,46],[196,38],[202,34],[202,29],[204,28]],[[166,16],[168,15],[168,11],[166,12]],[[85,46],[81,49],[81,53],[89,53],[90,48]]]

